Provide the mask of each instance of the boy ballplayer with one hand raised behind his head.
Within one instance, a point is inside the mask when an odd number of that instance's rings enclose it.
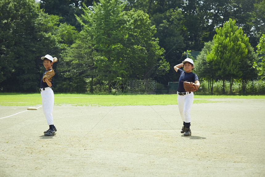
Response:
[[[183,70],[180,68],[183,66]],[[184,89],[183,82],[189,81],[193,82],[197,85],[197,88],[200,86],[200,82],[198,76],[192,72],[194,68],[193,60],[190,58],[186,58],[182,63],[174,66],[174,70],[177,74],[180,74],[178,87],[177,87],[177,106],[183,121],[183,127],[181,129],[181,133],[184,133],[184,136],[190,136],[190,109],[193,103],[193,92],[187,92]]]

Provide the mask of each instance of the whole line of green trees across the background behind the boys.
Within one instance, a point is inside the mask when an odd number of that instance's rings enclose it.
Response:
[[[265,75],[264,12],[263,0],[0,0],[0,92],[38,91],[46,54],[59,61],[55,92],[98,93],[114,80],[176,82],[173,66],[201,51],[194,72],[211,93],[229,80],[244,94]]]

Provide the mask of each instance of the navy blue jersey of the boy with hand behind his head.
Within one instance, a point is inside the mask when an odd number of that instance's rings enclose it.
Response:
[[[186,92],[183,86],[184,81],[195,83],[196,80],[199,80],[197,74],[193,72],[186,73],[184,70],[178,69],[177,73],[180,74],[179,81],[178,81],[178,87],[177,87],[178,92]]]

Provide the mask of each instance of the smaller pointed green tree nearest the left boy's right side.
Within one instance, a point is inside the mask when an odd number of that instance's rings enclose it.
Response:
[[[103,58],[92,47],[91,41],[90,36],[81,31],[75,43],[63,54],[65,64],[61,73],[64,81],[60,84],[63,92],[84,93],[87,91],[87,81],[91,78],[89,88],[90,93],[93,93],[93,79],[104,74],[97,69]]]

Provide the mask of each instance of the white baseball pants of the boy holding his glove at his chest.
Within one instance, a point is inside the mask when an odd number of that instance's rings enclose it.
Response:
[[[48,125],[53,125],[53,105],[54,105],[54,93],[50,87],[46,87],[44,91],[40,92],[42,100],[42,109],[46,117]]]

